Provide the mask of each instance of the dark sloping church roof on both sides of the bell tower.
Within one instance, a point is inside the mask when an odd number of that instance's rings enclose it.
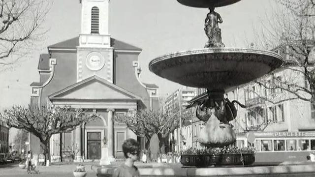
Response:
[[[141,48],[135,47],[133,45],[127,44],[123,41],[111,38],[111,45],[116,50],[135,50],[135,51],[142,51]],[[48,49],[54,49],[54,48],[62,48],[62,49],[76,49],[76,47],[79,46],[79,36],[67,39],[65,41],[59,42],[57,44],[53,44],[48,46]]]

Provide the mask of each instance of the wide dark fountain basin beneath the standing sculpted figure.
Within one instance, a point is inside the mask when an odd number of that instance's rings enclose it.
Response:
[[[149,63],[156,75],[195,88],[235,89],[283,64],[274,52],[253,49],[206,48],[164,55]]]

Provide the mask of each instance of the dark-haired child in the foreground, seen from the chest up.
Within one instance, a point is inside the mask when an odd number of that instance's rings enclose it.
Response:
[[[139,158],[139,143],[132,138],[127,139],[123,143],[123,152],[126,157],[126,161],[123,165],[114,170],[112,177],[140,177],[138,168],[133,165]]]

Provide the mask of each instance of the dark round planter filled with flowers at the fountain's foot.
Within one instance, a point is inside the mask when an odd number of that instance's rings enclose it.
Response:
[[[189,148],[181,153],[181,163],[185,166],[250,165],[254,161],[252,148]]]

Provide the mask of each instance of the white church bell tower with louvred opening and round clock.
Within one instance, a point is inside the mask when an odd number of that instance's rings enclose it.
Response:
[[[80,0],[81,33],[77,82],[97,75],[113,83],[113,48],[109,34],[109,0]]]

